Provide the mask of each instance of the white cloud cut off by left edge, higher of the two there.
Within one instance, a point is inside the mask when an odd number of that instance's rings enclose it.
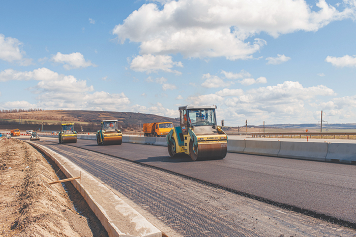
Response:
[[[17,62],[20,65],[28,66],[32,64],[32,59],[24,58],[26,54],[20,49],[23,45],[15,38],[7,37],[0,34],[0,59],[8,62]]]

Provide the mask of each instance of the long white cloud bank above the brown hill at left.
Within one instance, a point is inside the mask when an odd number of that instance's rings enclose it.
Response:
[[[124,93],[94,91],[94,87],[87,86],[85,80],[78,80],[72,75],[58,74],[45,67],[30,72],[12,69],[0,72],[0,81],[10,80],[39,82],[30,88],[37,94],[36,105],[26,101],[12,101],[6,104],[9,108],[126,110],[130,104]]]

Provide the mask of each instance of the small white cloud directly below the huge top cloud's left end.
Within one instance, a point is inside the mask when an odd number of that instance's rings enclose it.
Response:
[[[130,65],[130,69],[136,72],[146,72],[156,73],[159,70],[168,73],[182,74],[179,71],[172,70],[173,66],[183,67],[182,62],[174,62],[171,56],[168,55],[152,55],[152,54],[144,54],[142,56],[136,56]]]

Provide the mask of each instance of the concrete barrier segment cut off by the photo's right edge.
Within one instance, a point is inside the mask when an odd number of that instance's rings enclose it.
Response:
[[[356,162],[356,144],[354,143],[330,143],[325,161],[354,163]]]

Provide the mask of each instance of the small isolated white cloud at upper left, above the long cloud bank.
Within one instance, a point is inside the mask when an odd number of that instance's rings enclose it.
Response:
[[[97,66],[90,60],[85,60],[84,56],[79,52],[71,54],[62,54],[60,52],[57,52],[56,55],[53,55],[51,57],[51,60],[53,62],[64,64],[63,67],[66,70],[79,69],[80,67]]]

